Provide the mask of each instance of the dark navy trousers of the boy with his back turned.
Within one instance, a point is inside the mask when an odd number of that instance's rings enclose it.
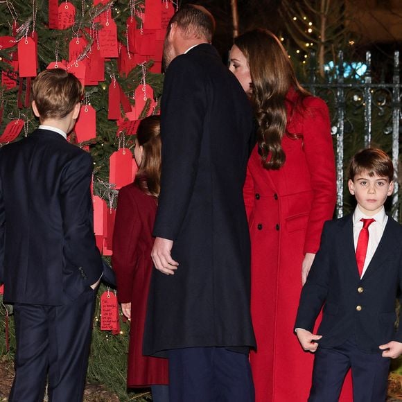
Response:
[[[15,378],[9,401],[80,402],[85,387],[96,291],[64,306],[15,304]]]

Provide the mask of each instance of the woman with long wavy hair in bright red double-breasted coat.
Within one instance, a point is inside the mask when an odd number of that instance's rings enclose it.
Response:
[[[336,201],[329,112],[303,89],[268,30],[237,37],[230,69],[250,94],[256,146],[247,166],[245,207],[252,241],[250,356],[256,402],[306,402],[313,356],[293,333],[302,284]],[[343,400],[351,401],[350,381]]]

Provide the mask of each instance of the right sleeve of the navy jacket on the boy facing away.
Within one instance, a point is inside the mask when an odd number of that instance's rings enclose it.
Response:
[[[64,258],[67,265],[82,272],[88,286],[98,281],[103,271],[94,235],[92,166],[91,155],[80,152],[64,166],[60,184]]]

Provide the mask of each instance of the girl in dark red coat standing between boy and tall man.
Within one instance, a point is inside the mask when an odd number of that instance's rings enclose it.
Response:
[[[152,272],[152,227],[157,211],[161,165],[159,116],[143,119],[134,157],[139,171],[134,183],[119,191],[113,234],[112,265],[123,314],[130,318],[128,387],[151,387],[152,401],[168,402],[168,362],[143,356],[143,327]]]

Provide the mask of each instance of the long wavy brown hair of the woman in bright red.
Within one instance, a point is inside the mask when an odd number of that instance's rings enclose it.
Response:
[[[286,123],[292,116],[286,114],[286,94],[290,88],[299,96],[297,105],[310,93],[295,76],[295,71],[279,39],[266,29],[250,30],[235,38],[234,44],[247,59],[252,79],[252,100],[258,122],[257,141],[265,169],[279,169],[286,155],[281,145],[283,134],[298,138],[286,131]]]

